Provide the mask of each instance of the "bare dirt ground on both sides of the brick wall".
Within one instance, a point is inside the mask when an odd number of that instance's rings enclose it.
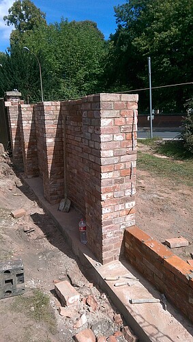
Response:
[[[11,211],[23,207],[26,218],[13,218]],[[188,247],[173,252],[183,259],[191,259],[192,246],[192,189],[153,178],[148,172],[137,171],[136,224],[158,241],[182,235],[190,242]],[[28,220],[29,218],[29,220]],[[24,228],[34,229],[25,233]],[[9,165],[9,159],[0,160],[0,261],[22,259],[25,265],[25,294],[1,299],[0,342],[71,342],[83,328],[109,337],[119,334],[120,326],[113,317],[116,308],[93,284],[87,269],[74,256],[53,220],[38,205],[31,189],[20,181]],[[80,306],[72,317],[59,315],[59,301],[53,280],[68,280],[80,293]],[[35,292],[40,290],[40,293]],[[42,294],[41,294],[42,293]],[[46,294],[50,305],[40,300]],[[98,302],[95,311],[85,303],[92,295]],[[39,305],[39,306],[38,306]],[[36,309],[42,317],[35,315]],[[87,322],[76,328],[80,316]],[[123,321],[123,324],[125,322]],[[123,336],[117,341],[125,341]]]

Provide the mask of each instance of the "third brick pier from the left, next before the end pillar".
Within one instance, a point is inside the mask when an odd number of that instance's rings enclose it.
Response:
[[[35,106],[38,160],[44,197],[51,204],[63,198],[63,142],[59,102]]]

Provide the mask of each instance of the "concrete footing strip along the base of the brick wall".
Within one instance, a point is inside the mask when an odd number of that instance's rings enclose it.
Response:
[[[57,211],[58,205],[50,205],[43,195],[42,180],[40,178],[25,179],[33,190],[35,196],[41,202],[44,209],[50,214],[61,233],[67,239],[80,261],[90,267],[95,282],[100,288],[106,291],[119,309],[127,324],[134,330],[139,341],[153,342],[193,342],[193,324],[185,319],[177,308],[168,303],[167,311],[161,303],[151,304],[130,304],[130,299],[136,298],[160,298],[160,293],[150,285],[136,270],[126,261],[114,261],[102,265],[93,256],[87,246],[80,243],[78,222],[80,215],[71,208],[69,213]],[[107,276],[134,276],[140,281],[129,280],[130,285],[115,287],[115,282],[119,280],[104,280]],[[120,279],[123,281],[123,278]]]

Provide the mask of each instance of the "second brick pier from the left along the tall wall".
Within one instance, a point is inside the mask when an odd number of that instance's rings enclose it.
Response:
[[[32,178],[39,175],[33,105],[20,105],[18,110],[24,172]]]

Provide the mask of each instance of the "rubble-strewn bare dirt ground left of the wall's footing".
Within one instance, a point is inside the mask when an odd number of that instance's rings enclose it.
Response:
[[[21,207],[29,215],[13,218],[11,211]],[[27,226],[34,231],[25,233]],[[95,336],[115,334],[117,342],[125,341],[119,333],[126,324],[115,322],[117,309],[89,278],[33,192],[1,159],[0,262],[12,259],[23,260],[25,293],[0,300],[0,342],[72,342],[74,334],[85,328],[92,328]],[[59,315],[53,280],[68,280],[80,293],[80,305],[70,311],[71,317]],[[98,303],[96,309],[95,302],[91,306],[85,302],[89,295]],[[86,323],[76,328],[82,315]]]

